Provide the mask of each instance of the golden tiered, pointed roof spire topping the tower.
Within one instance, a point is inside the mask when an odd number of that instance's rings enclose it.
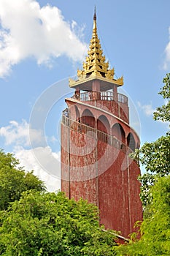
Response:
[[[106,62],[105,56],[103,55],[97,34],[96,8],[93,15],[93,34],[90,39],[88,56],[85,62],[83,62],[82,67],[82,70],[77,69],[78,80],[69,80],[70,87],[76,86],[76,84],[80,83],[82,80],[91,80],[94,78],[107,80],[107,82],[115,83],[117,86],[123,86],[123,76],[117,80],[114,79],[115,70],[114,68],[109,69],[109,62]]]

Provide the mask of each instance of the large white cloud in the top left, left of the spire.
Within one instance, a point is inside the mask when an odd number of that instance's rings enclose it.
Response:
[[[30,56],[50,66],[53,58],[63,54],[82,61],[87,52],[82,29],[74,20],[66,22],[58,7],[41,8],[34,0],[1,0],[0,22],[0,77]]]

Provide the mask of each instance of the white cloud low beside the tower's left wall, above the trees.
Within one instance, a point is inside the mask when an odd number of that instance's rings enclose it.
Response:
[[[34,148],[30,146],[30,132],[31,140],[34,139],[34,145],[37,145]],[[45,181],[48,191],[57,191],[61,184],[60,152],[53,152],[47,145],[39,146],[42,136],[42,132],[31,129],[26,120],[21,123],[10,121],[9,125],[0,128],[0,137],[4,138],[6,145],[12,146],[20,165],[25,170],[34,170],[34,174]]]

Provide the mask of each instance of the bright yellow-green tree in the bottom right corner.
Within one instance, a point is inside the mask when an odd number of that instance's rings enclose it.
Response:
[[[120,246],[120,255],[170,255],[170,176],[158,178],[151,192],[152,204],[141,225],[142,237]]]

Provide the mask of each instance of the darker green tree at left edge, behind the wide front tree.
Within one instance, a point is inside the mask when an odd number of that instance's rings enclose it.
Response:
[[[19,161],[12,154],[0,150],[0,211],[19,200],[23,191],[45,190],[44,183],[34,176],[33,171],[26,173],[18,165]]]

